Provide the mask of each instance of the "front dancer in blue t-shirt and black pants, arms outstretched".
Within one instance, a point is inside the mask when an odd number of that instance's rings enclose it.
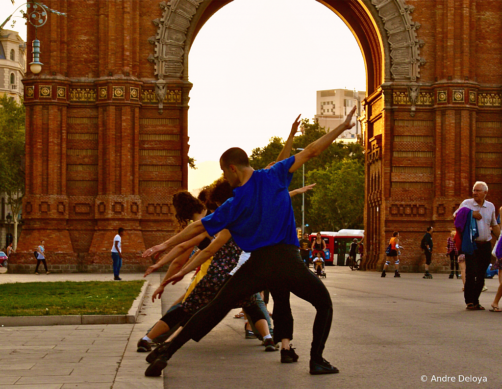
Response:
[[[354,112],[355,107],[336,129],[268,170],[255,171],[249,166],[246,153],[239,148],[225,151],[220,158],[220,167],[234,187],[234,196],[213,214],[190,224],[171,239],[143,253],[145,257],[150,256],[204,231],[214,235],[223,229],[229,230],[242,250],[251,252],[250,258],[228,279],[214,300],[192,316],[165,352],[147,368],[145,375],[160,375],[167,361],[181,346],[190,339],[202,339],[239,300],[266,288],[270,289],[272,297],[275,293],[284,295],[291,292],[314,306],[317,313],[310,349],[310,373],[338,372],[322,356],[333,315],[331,298],[323,282],[305,267],[300,257],[288,186],[293,172],[318,156],[343,131],[354,126],[351,123]],[[278,268],[283,269],[279,277]],[[177,279],[172,277],[172,280]],[[284,339],[292,339],[292,320],[278,319],[274,318],[274,333],[279,332]]]

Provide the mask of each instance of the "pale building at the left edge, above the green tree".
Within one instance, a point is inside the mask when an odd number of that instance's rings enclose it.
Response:
[[[26,72],[26,43],[16,31],[0,32],[0,94],[20,103]]]

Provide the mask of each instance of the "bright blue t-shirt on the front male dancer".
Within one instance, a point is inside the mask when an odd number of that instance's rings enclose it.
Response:
[[[288,170],[294,162],[292,156],[270,169],[254,171],[244,185],[233,189],[233,197],[202,218],[207,233],[214,235],[226,228],[247,252],[280,243],[299,246],[288,192],[293,178]]]

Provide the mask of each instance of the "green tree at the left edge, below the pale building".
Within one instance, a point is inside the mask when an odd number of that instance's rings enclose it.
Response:
[[[14,221],[17,246],[18,217],[25,192],[25,107],[6,95],[0,97],[0,193],[6,193]]]

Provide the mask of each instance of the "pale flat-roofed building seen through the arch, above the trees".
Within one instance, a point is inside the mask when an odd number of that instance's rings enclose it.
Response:
[[[355,126],[344,131],[337,140],[343,142],[356,142],[361,135],[361,124],[357,120],[361,116],[361,102],[366,96],[365,91],[348,89],[318,90],[316,99],[315,121],[326,130],[338,127],[347,117],[352,107],[357,106],[356,115],[352,121]]]

